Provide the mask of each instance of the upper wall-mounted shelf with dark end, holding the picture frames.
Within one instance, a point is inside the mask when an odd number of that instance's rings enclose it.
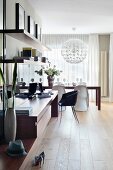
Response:
[[[34,48],[37,48],[40,52],[42,52],[42,50],[51,50],[24,29],[0,30],[0,33],[6,33],[14,39],[20,40],[30,46],[33,46]]]

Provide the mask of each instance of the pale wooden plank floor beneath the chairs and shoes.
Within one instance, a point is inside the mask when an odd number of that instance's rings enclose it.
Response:
[[[53,118],[43,137],[40,149],[44,151],[42,168],[28,164],[26,170],[113,170],[113,104],[102,103],[101,111],[94,103],[88,112],[77,112],[78,124],[70,108],[63,117]],[[22,170],[22,168],[21,168]]]

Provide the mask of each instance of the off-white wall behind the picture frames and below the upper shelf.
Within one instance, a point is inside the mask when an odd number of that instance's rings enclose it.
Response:
[[[6,28],[15,29],[15,3],[18,2],[25,9],[26,15],[30,15],[35,23],[41,26],[41,19],[37,14],[37,11],[33,9],[28,0],[6,0]],[[7,36],[6,40],[6,58],[13,58],[18,56],[18,52],[22,50],[23,47],[29,47],[28,44],[24,44],[10,36]]]

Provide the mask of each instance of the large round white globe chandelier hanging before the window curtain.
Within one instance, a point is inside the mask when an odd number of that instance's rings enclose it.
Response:
[[[80,63],[88,55],[88,46],[79,39],[70,39],[63,44],[61,55],[68,63]]]

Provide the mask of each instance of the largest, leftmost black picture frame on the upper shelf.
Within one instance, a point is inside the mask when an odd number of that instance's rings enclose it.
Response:
[[[25,29],[25,10],[24,8],[19,4],[16,3],[16,29]]]

